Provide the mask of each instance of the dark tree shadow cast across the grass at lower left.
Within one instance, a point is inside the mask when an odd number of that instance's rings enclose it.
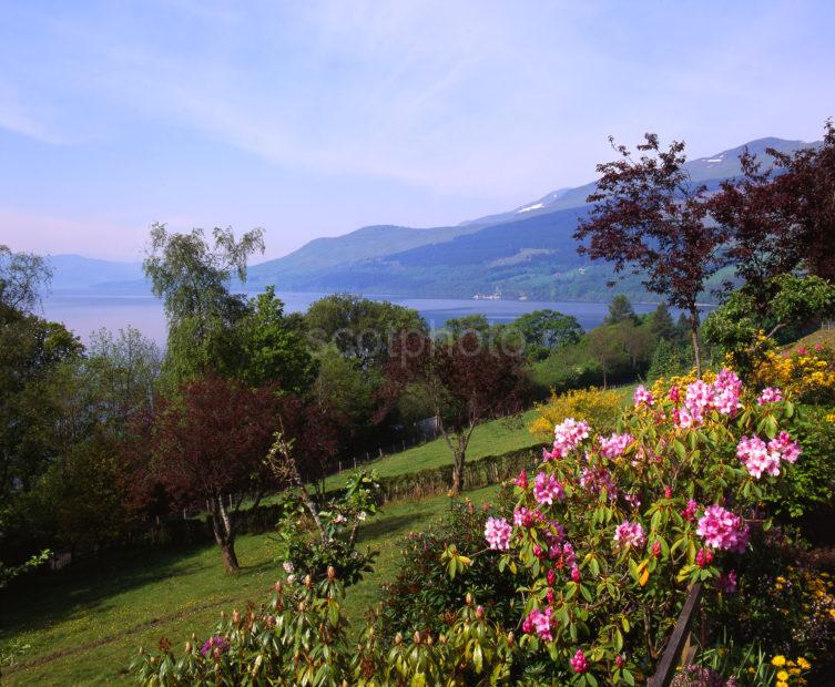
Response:
[[[211,555],[213,551],[216,557]],[[248,577],[272,565],[264,561],[244,566],[235,576]],[[220,550],[215,546],[105,552],[60,573],[35,575],[0,592],[3,607],[0,642],[11,633],[34,632],[89,617],[114,596],[206,568],[216,568],[218,576],[224,575]],[[139,603],[136,611],[141,611]]]

